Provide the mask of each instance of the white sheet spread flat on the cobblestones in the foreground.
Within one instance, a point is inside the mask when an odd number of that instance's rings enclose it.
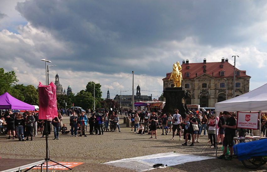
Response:
[[[135,171],[146,171],[154,169],[154,164],[164,164],[168,166],[184,164],[187,162],[201,161],[205,159],[212,159],[209,156],[197,156],[188,154],[177,154],[174,152],[153,154],[146,156],[139,156],[134,158],[120,159],[116,161],[110,161],[103,164],[112,165],[116,167],[122,167],[132,169]]]

